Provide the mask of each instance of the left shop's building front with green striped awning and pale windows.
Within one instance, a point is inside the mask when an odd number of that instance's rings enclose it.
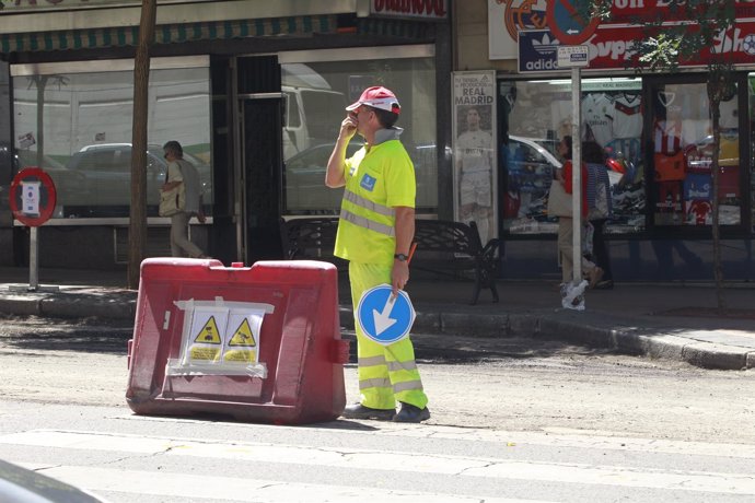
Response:
[[[0,187],[39,166],[57,190],[42,267],[127,261],[133,56],[141,1],[5,2],[0,11]],[[385,85],[404,108],[421,214],[438,213],[448,109],[445,0],[158,1],[148,106],[147,255],[170,255],[158,217],[162,145],[178,140],[205,187],[191,238],[226,264],[282,256],[279,221],[337,214],[325,164],[345,107]],[[357,142],[355,142],[357,148]],[[0,262],[28,257],[0,199]]]

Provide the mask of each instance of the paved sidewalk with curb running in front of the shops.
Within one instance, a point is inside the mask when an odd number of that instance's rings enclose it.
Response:
[[[38,278],[39,291],[27,292],[28,269],[0,268],[0,313],[133,319],[137,292],[124,288],[125,270],[42,269]],[[475,306],[472,289],[471,281],[413,279],[414,331],[486,338],[488,347],[496,338],[550,338],[709,369],[755,367],[755,284],[727,283],[727,317],[709,313],[712,284],[619,283],[586,292],[581,312],[561,307],[553,282],[499,281],[500,302],[483,291]],[[341,325],[352,328],[345,281],[339,293]]]

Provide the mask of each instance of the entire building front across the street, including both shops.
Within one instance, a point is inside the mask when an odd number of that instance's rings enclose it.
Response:
[[[724,278],[748,281],[753,2],[736,2],[742,23],[720,45],[739,60],[736,90],[721,104],[718,194],[704,66],[642,74],[623,63],[638,35],[629,20],[663,2],[615,2],[623,24],[579,30],[559,10],[568,3],[159,0],[147,255],[170,253],[156,195],[161,145],[178,140],[200,172],[210,215],[193,222],[193,239],[225,264],[280,258],[281,218],[338,213],[340,194],[323,179],[344,106],[380,84],[404,107],[419,218],[483,223],[484,238],[502,238],[503,278],[556,280],[556,222],[545,201],[561,163],[555,147],[574,114],[571,73],[556,52],[578,45],[589,48],[580,137],[612,157],[605,232],[614,279],[712,279],[717,198]],[[0,264],[27,259],[28,230],[7,195],[20,169],[40,166],[58,191],[39,229],[40,265],[124,267],[140,8],[138,0],[37,0],[0,10]]]

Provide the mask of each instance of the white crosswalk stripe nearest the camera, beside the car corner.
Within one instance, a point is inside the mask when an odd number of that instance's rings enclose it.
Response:
[[[391,501],[392,503],[477,503],[479,496],[427,492],[381,490],[364,487],[282,482],[200,475],[117,470],[86,466],[53,466],[21,463],[63,482],[94,492],[150,494],[158,496],[249,501],[258,503],[352,503],[355,501]],[[486,498],[486,503],[548,503],[543,500]]]

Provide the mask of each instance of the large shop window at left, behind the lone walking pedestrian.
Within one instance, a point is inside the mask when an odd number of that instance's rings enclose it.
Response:
[[[182,66],[186,68],[175,68]],[[131,61],[118,60],[11,68],[18,166],[40,165],[49,173],[58,192],[56,217],[129,217],[131,67]],[[211,214],[209,89],[207,58],[154,58],[151,62],[149,217],[158,217],[166,172],[162,145],[169,140],[179,141],[185,159],[197,167],[205,211]]]

